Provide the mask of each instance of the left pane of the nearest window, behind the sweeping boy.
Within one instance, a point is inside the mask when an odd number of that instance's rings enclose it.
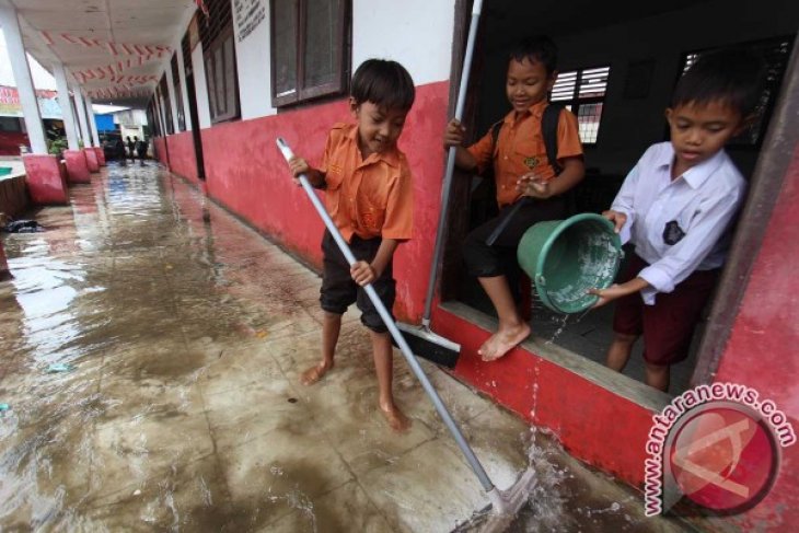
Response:
[[[275,20],[275,95],[287,96],[297,92],[297,2],[274,0]]]

